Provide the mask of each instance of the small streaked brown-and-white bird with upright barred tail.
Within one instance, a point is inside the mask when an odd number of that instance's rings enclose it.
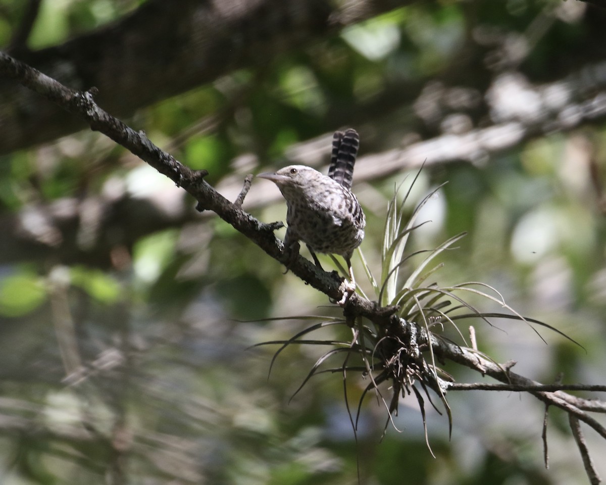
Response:
[[[345,289],[349,293],[356,288],[351,256],[362,243],[366,226],[364,211],[351,192],[358,148],[356,130],[338,131],[333,135],[328,175],[304,165],[290,165],[277,172],[257,175],[274,182],[286,200],[284,247],[288,259],[298,255],[299,241],[307,244],[316,266],[320,268],[322,266],[315,253],[341,255],[347,263],[350,284]]]

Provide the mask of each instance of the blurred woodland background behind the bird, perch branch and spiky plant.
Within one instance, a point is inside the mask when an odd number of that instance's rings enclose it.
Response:
[[[231,200],[248,173],[325,170],[332,133],[355,127],[376,273],[387,203],[425,163],[405,210],[447,184],[410,252],[467,231],[431,278],[490,284],[585,347],[474,323],[479,350],[544,383],[604,383],[604,25],[606,10],[574,0],[0,0],[3,50],[98,87],[104,109]],[[428,410],[435,457],[414,396],[383,438],[387,412],[368,396],[357,442],[339,373],[291,399],[325,349],[291,346],[268,375],[277,347],[249,347],[310,325],[268,318],[339,309],[5,79],[0,173],[0,483],[353,484],[358,467],[362,484],[587,483],[555,409],[545,469],[544,407],[528,395],[450,393],[450,441],[447,417]],[[244,209],[285,219],[265,180]],[[352,409],[366,385],[348,381]],[[606,443],[586,432],[604,478]]]

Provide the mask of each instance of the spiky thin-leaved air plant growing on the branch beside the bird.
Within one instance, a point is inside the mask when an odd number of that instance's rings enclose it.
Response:
[[[390,318],[370,321],[363,316],[355,316],[353,319],[342,316],[291,316],[287,319],[304,319],[314,323],[287,340],[268,341],[256,346],[280,345],[271,360],[270,372],[276,358],[282,350],[290,345],[329,347],[329,350],[313,364],[293,397],[303,389],[312,376],[320,373],[340,373],[343,379],[345,404],[355,433],[358,429],[362,403],[369,392],[374,392],[379,403],[382,403],[387,410],[384,433],[389,423],[397,429],[393,416],[398,415],[398,404],[401,398],[411,394],[415,395],[421,410],[425,440],[429,447],[425,420],[425,398],[439,414],[443,412],[447,414],[450,431],[452,427],[452,415],[445,390],[447,389],[446,383],[453,381],[453,378],[439,367],[438,358],[432,345],[432,340],[446,339],[443,335],[446,326],[452,326],[456,330],[461,339],[459,346],[466,347],[468,350],[469,344],[457,325],[458,321],[464,319],[476,319],[491,326],[493,318],[515,319],[530,325],[536,333],[538,332],[534,329],[533,324],[547,327],[565,336],[568,340],[571,339],[548,324],[520,315],[505,303],[498,290],[488,284],[472,281],[444,287],[439,286],[438,283],[427,283],[428,279],[444,265],[444,263],[436,263],[436,258],[445,250],[453,249],[453,245],[463,238],[465,233],[451,237],[435,249],[407,252],[410,235],[425,224],[425,222],[418,223],[421,209],[443,186],[442,184],[428,193],[408,215],[408,212],[404,210],[405,202],[410,196],[411,188],[419,173],[420,171],[401,201],[398,195],[404,182],[396,188],[388,203],[382,238],[381,277],[379,279],[373,275],[373,270],[367,264],[362,250],[357,249],[362,267],[364,267],[374,292],[374,301],[379,308],[385,309],[385,313],[390,315]],[[331,257],[339,270],[347,274],[339,261],[334,256]],[[415,266],[412,261],[416,257],[422,259]],[[359,287],[357,291],[362,297],[371,299]],[[479,296],[497,303],[508,313],[482,312],[466,299],[468,295]],[[286,318],[275,319],[284,320]],[[348,340],[311,338],[314,332],[327,327],[346,327],[350,338]],[[474,346],[471,350],[493,361]],[[339,361],[339,365],[335,366],[334,362],[338,356],[341,356],[342,359]],[[352,376],[359,375],[367,381],[367,384],[359,398],[354,416],[348,403],[347,381]],[[387,386],[382,386],[382,384],[387,384]],[[430,391],[433,391],[433,395],[437,396],[441,402],[442,410],[432,398]]]

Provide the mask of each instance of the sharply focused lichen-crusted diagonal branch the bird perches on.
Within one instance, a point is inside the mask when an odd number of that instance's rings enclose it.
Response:
[[[190,195],[196,198],[198,207],[215,212],[224,221],[228,222],[228,224],[257,244],[257,246],[261,247],[272,258],[283,264],[288,264],[288,269],[303,281],[325,293],[330,298],[341,299],[342,291],[339,289],[341,281],[337,276],[332,273],[322,272],[301,256],[290,264],[284,255],[282,242],[273,235],[272,231],[275,229],[276,224],[264,224],[241,209],[240,205],[242,199],[244,199],[247,184],[245,184],[243,193],[238,197],[236,203],[232,203],[204,181],[204,176],[207,175],[205,170],[194,171],[182,165],[171,155],[156,147],[144,133],[135,132],[135,130],[127,127],[119,119],[102,110],[93,99],[93,90],[83,93],[68,89],[58,81],[55,81],[55,79],[49,78],[39,71],[16,61],[5,53],[0,53],[0,73],[16,79],[21,84],[45,96],[45,98],[56,102],[68,112],[78,115],[93,130],[104,133],[112,138],[118,144],[124,146],[150,164],[158,172],[173,180],[178,186],[183,187]],[[411,361],[418,359],[418,354],[421,352],[420,349],[423,349],[422,351],[431,350],[431,354],[438,358],[448,359],[454,363],[476,370],[482,375],[491,376],[505,383],[509,386],[508,390],[524,390],[543,401],[547,406],[559,407],[567,412],[569,416],[572,416],[571,419],[573,421],[571,423],[576,422],[574,420],[583,421],[598,432],[601,437],[606,439],[606,428],[585,412],[586,410],[605,412],[605,404],[598,401],[585,400],[562,392],[562,389],[579,390],[578,387],[565,385],[544,386],[541,383],[511,372],[511,364],[506,366],[496,364],[484,358],[478,352],[438,338],[438,336],[429,332],[428,329],[400,318],[396,311],[397,308],[395,307],[381,308],[376,302],[362,298],[356,293],[347,299],[344,306],[344,315],[347,321],[353,321],[353,318],[356,316],[365,316],[378,328],[386,329],[386,331],[389,331],[389,329],[398,329],[398,335],[408,336],[411,350],[407,350],[407,358],[409,357]],[[434,375],[431,374],[431,376]],[[437,376],[435,379],[437,379]],[[425,384],[429,386],[433,385],[431,382]],[[440,392],[441,394],[450,389],[461,390],[465,388],[465,386],[441,380],[435,381],[435,384],[441,388],[436,390],[436,392]],[[470,388],[473,386],[476,386],[477,389],[480,388],[479,384],[468,386]],[[604,386],[588,387],[591,387],[590,390],[604,390]],[[488,389],[488,387],[485,387],[485,389]],[[504,388],[501,386],[499,390],[504,390]],[[587,387],[583,390],[587,390]],[[581,450],[583,449],[581,445],[579,447]],[[584,452],[582,451],[582,453]]]

